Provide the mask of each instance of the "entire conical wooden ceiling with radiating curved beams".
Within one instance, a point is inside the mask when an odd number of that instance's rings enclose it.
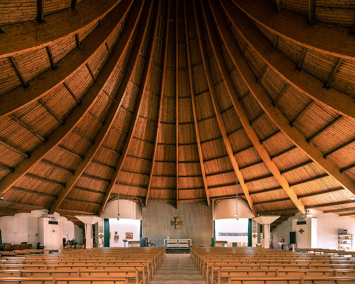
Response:
[[[3,5],[1,7],[1,5]],[[0,4],[0,215],[233,198],[355,214],[355,4]]]

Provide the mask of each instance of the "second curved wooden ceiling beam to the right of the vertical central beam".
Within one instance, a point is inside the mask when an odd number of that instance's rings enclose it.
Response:
[[[218,103],[218,98],[217,98],[217,94],[215,92],[214,86],[213,86],[213,78],[212,78],[212,72],[209,66],[209,62],[207,59],[207,51],[206,51],[206,45],[204,45],[202,43],[202,38],[203,38],[203,32],[202,32],[202,24],[201,24],[201,19],[200,19],[200,13],[197,11],[196,9],[196,3],[193,2],[193,11],[195,13],[195,23],[196,23],[196,30],[197,30],[197,35],[198,35],[198,43],[200,45],[200,52],[201,52],[201,57],[202,57],[202,61],[203,61],[203,69],[206,75],[206,79],[207,79],[207,84],[208,84],[208,88],[209,88],[209,92],[211,94],[211,100],[212,100],[212,104],[213,104],[213,109],[214,112],[216,114],[217,117],[217,122],[218,122],[218,126],[220,129],[220,132],[222,133],[222,137],[223,137],[223,142],[224,142],[224,146],[226,148],[226,151],[228,153],[230,162],[233,166],[233,169],[235,171],[236,177],[240,182],[240,185],[242,187],[242,190],[245,194],[245,197],[249,203],[249,206],[251,208],[251,211],[254,212],[256,214],[256,209],[253,205],[253,200],[249,195],[249,190],[247,188],[247,186],[244,183],[244,178],[239,170],[239,165],[237,163],[237,160],[235,158],[235,156],[233,155],[233,149],[232,146],[230,144],[229,138],[227,136],[227,132],[225,130],[225,125],[224,125],[224,121],[223,118],[220,114],[220,107],[219,107],[219,103]]]

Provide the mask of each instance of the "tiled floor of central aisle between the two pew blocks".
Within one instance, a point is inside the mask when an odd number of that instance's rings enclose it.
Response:
[[[167,253],[162,266],[151,280],[151,284],[163,283],[206,284],[206,281],[193,265],[189,253]]]

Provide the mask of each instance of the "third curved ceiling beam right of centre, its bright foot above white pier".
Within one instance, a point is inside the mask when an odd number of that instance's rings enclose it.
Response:
[[[277,165],[270,158],[270,155],[266,151],[266,148],[260,143],[260,140],[259,140],[255,130],[253,129],[253,127],[249,123],[248,116],[247,116],[242,104],[238,100],[238,95],[235,90],[233,81],[231,80],[231,77],[228,74],[228,67],[226,65],[226,62],[224,61],[224,56],[222,54],[222,50],[220,50],[220,48],[219,48],[217,32],[212,27],[213,17],[207,14],[207,12],[208,12],[207,5],[208,4],[206,3],[204,5],[202,1],[201,1],[201,3],[202,3],[202,10],[204,12],[203,14],[206,17],[205,22],[206,22],[207,31],[209,33],[209,37],[211,40],[212,49],[214,50],[214,53],[216,56],[217,66],[219,67],[219,70],[222,74],[223,80],[226,83],[227,91],[228,91],[230,99],[234,105],[235,111],[240,119],[240,122],[241,122],[242,126],[244,127],[244,130],[246,131],[246,133],[247,133],[250,141],[252,142],[253,146],[255,147],[256,151],[258,152],[258,154],[260,155],[261,159],[264,161],[264,163],[266,164],[268,169],[271,171],[272,175],[279,182],[279,184],[282,186],[282,188],[284,189],[286,194],[289,196],[289,198],[292,200],[292,202],[295,204],[295,206],[299,209],[299,211],[304,214],[306,211],[305,211],[305,207],[304,207],[303,203],[297,198],[297,195],[294,192],[294,190],[290,188],[290,185],[289,185],[288,181],[285,179],[285,177],[280,174],[280,170],[278,169]],[[220,31],[223,31],[224,33],[229,31],[227,23],[225,21],[223,21],[222,9],[220,9],[216,5],[212,4],[211,11],[213,11],[215,23],[217,24]],[[208,17],[206,15],[208,15]],[[245,183],[246,183],[246,181],[245,181]]]

